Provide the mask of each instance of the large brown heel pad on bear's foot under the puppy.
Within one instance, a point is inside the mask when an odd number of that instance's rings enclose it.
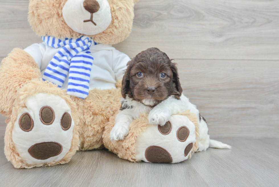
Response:
[[[145,158],[148,162],[171,163],[173,159],[171,154],[159,146],[150,146],[145,150]]]

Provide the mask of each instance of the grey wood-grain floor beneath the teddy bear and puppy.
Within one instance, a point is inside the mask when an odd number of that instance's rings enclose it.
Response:
[[[132,163],[107,150],[77,152],[64,165],[15,169],[0,139],[0,186],[278,186],[278,139],[218,139],[232,150],[209,148],[178,164]]]

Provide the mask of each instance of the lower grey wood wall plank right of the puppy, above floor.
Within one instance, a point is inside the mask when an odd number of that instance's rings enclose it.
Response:
[[[206,118],[212,138],[279,138],[277,61],[175,62],[183,93]]]

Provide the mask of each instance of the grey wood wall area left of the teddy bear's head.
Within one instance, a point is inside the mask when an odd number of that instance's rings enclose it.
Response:
[[[0,1],[0,57],[6,57],[15,47],[22,49],[42,40],[31,29],[28,0]]]

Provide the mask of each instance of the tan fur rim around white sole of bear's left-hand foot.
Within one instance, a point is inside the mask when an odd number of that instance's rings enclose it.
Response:
[[[79,148],[79,126],[75,125],[73,130],[71,148],[69,152],[67,152],[67,154],[64,156],[64,158],[59,162],[51,162],[45,164],[27,164],[24,160],[22,160],[22,158],[20,158],[12,139],[13,127],[15,121],[17,120],[17,116],[20,113],[20,110],[26,107],[25,103],[28,100],[28,98],[38,93],[54,94],[63,98],[71,108],[72,117],[75,124],[79,124],[79,119],[77,117],[78,113],[76,111],[76,104],[71,100],[70,96],[66,94],[65,90],[62,90],[58,88],[56,85],[47,81],[44,82],[41,79],[33,79],[29,83],[23,85],[22,88],[20,88],[17,92],[17,98],[13,105],[12,115],[6,121],[8,122],[8,125],[5,132],[5,155],[7,159],[12,162],[15,168],[32,168],[40,166],[53,166],[57,164],[65,164],[71,160],[72,156]]]

